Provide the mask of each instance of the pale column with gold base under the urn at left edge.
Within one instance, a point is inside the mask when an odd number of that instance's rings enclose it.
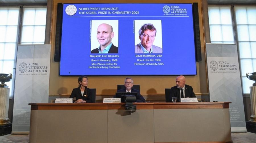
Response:
[[[0,87],[0,125],[11,124],[8,118],[9,93],[10,88]]]

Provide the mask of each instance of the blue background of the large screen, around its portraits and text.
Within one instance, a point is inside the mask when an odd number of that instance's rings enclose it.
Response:
[[[65,9],[74,5],[77,12],[73,16]],[[164,15],[163,7],[170,7],[169,15]],[[184,15],[172,14],[172,6],[186,9]],[[118,10],[79,10],[79,8],[108,7]],[[129,11],[139,14],[81,14],[93,11]],[[176,10],[176,12],[179,10]],[[176,14],[176,15],[175,15]],[[91,54],[90,23],[92,20],[118,20],[118,47],[116,54]],[[134,20],[161,20],[163,53],[135,54]],[[115,27],[113,27],[114,29]],[[91,37],[96,38],[96,37]],[[156,37],[157,38],[157,37]],[[99,45],[99,44],[98,44]],[[96,48],[96,47],[95,47]],[[90,57],[90,55],[119,55],[119,57]],[[136,57],[155,55],[159,57]],[[92,60],[114,59],[111,62]],[[154,60],[140,61],[139,60]],[[157,61],[156,61],[157,59]],[[160,60],[160,61],[159,61]],[[116,65],[90,68],[92,63],[115,63]],[[135,63],[156,63],[156,65],[135,65]],[[162,64],[160,64],[162,63]],[[108,68],[106,68],[108,67]],[[119,67],[119,68],[118,68]],[[64,4],[61,37],[60,75],[196,75],[195,42],[193,30],[192,4]]]

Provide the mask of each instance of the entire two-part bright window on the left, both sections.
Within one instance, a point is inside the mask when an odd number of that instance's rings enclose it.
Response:
[[[20,11],[22,32],[20,32]],[[0,7],[0,73],[11,73],[13,79],[7,82],[10,97],[13,95],[15,64],[18,41],[20,44],[44,44],[46,6]],[[20,33],[20,34],[19,34]],[[21,35],[21,39],[18,39]]]

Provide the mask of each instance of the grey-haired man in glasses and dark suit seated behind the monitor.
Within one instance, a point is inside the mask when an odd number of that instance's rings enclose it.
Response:
[[[135,93],[137,93],[136,102],[145,102],[146,101],[144,99],[144,97],[140,94],[139,90],[132,88],[133,87],[133,79],[132,78],[126,77],[124,85],[125,85],[125,89],[117,90],[117,92],[135,92]],[[115,98],[115,96],[114,96],[114,98]]]

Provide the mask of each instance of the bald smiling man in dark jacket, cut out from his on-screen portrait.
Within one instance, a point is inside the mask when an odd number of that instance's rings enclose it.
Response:
[[[113,27],[106,23],[100,24],[97,29],[97,40],[100,46],[93,49],[91,54],[118,53],[118,47],[114,46],[111,42],[113,37]]]

